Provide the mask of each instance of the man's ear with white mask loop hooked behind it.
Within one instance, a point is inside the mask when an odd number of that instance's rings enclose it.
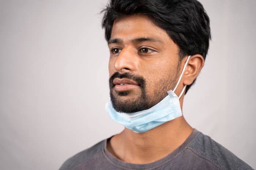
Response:
[[[184,58],[187,60],[187,58]],[[190,85],[204,66],[204,58],[200,54],[192,55],[184,72],[183,84]]]

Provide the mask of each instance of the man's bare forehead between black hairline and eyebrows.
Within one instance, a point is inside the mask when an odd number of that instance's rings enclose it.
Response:
[[[170,41],[169,35],[146,15],[129,15],[114,20],[111,38],[132,40],[140,37],[153,37]]]

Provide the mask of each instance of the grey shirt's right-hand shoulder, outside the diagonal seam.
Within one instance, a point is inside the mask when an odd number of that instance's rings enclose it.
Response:
[[[198,132],[187,145],[187,149],[200,157],[207,159],[221,169],[252,169],[248,164],[239,159],[225,147],[215,142],[209,136]]]

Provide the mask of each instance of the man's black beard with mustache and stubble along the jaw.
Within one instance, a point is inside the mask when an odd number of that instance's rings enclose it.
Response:
[[[162,99],[167,96],[167,91],[174,88],[178,79],[178,73],[180,64],[178,64],[175,75],[167,76],[166,78],[160,79],[156,84],[154,84],[154,92],[153,95],[149,95],[146,91],[146,80],[142,76],[134,75],[129,72],[125,72],[124,74],[120,74],[118,72],[114,73],[109,78],[109,88],[110,88],[110,100],[113,108],[122,113],[133,113],[138,111],[147,110],[157,103],[159,103]],[[115,78],[127,78],[133,80],[138,83],[141,92],[139,95],[131,98],[131,99],[122,99],[121,96],[128,96],[132,93],[132,91],[114,91],[115,84],[113,80]]]

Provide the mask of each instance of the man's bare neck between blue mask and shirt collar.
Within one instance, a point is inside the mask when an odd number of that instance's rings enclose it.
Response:
[[[125,128],[110,139],[107,149],[124,162],[150,163],[177,149],[192,131],[192,127],[180,116],[146,133],[135,133]]]

